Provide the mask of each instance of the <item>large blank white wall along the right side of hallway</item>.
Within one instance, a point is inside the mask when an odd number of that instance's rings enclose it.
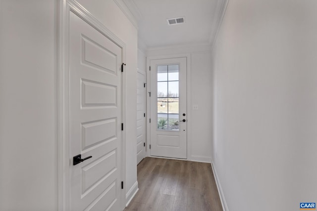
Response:
[[[230,0],[213,49],[213,163],[230,211],[317,201],[317,1]]]

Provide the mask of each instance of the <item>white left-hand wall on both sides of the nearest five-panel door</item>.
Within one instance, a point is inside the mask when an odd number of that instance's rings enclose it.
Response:
[[[126,44],[128,192],[137,181],[137,29],[112,0],[78,2]],[[0,1],[1,211],[57,210],[56,3]]]

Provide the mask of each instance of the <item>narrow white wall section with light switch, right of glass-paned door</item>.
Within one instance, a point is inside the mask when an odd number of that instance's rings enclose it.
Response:
[[[210,52],[192,53],[192,105],[188,107],[192,110],[192,160],[205,162],[210,162],[213,135],[210,58]],[[193,105],[198,105],[198,110],[193,110]]]

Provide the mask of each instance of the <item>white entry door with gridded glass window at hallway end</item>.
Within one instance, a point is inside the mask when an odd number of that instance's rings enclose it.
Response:
[[[151,156],[187,158],[186,58],[151,60]]]

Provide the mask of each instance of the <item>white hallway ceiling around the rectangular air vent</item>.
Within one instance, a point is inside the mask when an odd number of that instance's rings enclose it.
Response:
[[[123,0],[138,21],[139,40],[147,47],[211,44],[223,0]],[[185,16],[169,26],[166,19]]]

